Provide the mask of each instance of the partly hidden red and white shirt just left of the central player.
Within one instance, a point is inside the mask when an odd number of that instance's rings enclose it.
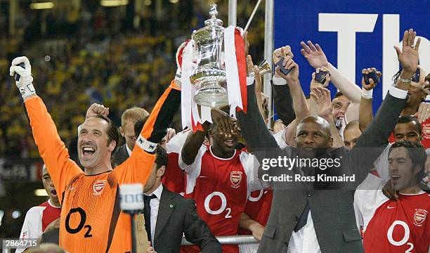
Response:
[[[179,167],[179,154],[190,130],[181,131],[166,144],[167,169],[162,177],[163,186],[181,195],[185,194],[185,172]]]

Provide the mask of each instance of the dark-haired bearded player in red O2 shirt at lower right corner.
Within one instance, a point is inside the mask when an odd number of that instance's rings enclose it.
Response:
[[[365,252],[429,251],[430,195],[419,187],[426,159],[418,142],[393,143],[388,158],[389,181],[373,174],[363,181],[362,190],[356,192],[362,201],[355,205],[363,215]],[[393,199],[384,195],[385,184],[393,189]]]

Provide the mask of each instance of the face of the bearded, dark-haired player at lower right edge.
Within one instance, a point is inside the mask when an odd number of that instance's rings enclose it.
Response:
[[[404,147],[393,148],[389,154],[389,176],[393,190],[403,190],[417,184],[418,166],[413,166],[408,150]]]

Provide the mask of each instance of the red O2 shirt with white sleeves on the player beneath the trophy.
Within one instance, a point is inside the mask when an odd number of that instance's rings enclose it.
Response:
[[[235,150],[223,159],[202,145],[193,164],[179,166],[186,172],[185,197],[193,198],[197,214],[207,223],[215,236],[236,235],[240,215],[245,211],[249,192],[261,189],[254,155]],[[197,247],[186,252],[198,252]],[[237,245],[223,245],[223,252],[239,252]]]

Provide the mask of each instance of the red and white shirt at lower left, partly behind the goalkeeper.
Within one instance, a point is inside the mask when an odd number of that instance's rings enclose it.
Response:
[[[25,214],[24,223],[21,228],[21,239],[37,239],[44,233],[46,226],[52,221],[60,218],[61,207],[54,207],[50,200],[41,203],[37,207],[32,207]],[[25,249],[17,249],[16,252],[23,252]]]

